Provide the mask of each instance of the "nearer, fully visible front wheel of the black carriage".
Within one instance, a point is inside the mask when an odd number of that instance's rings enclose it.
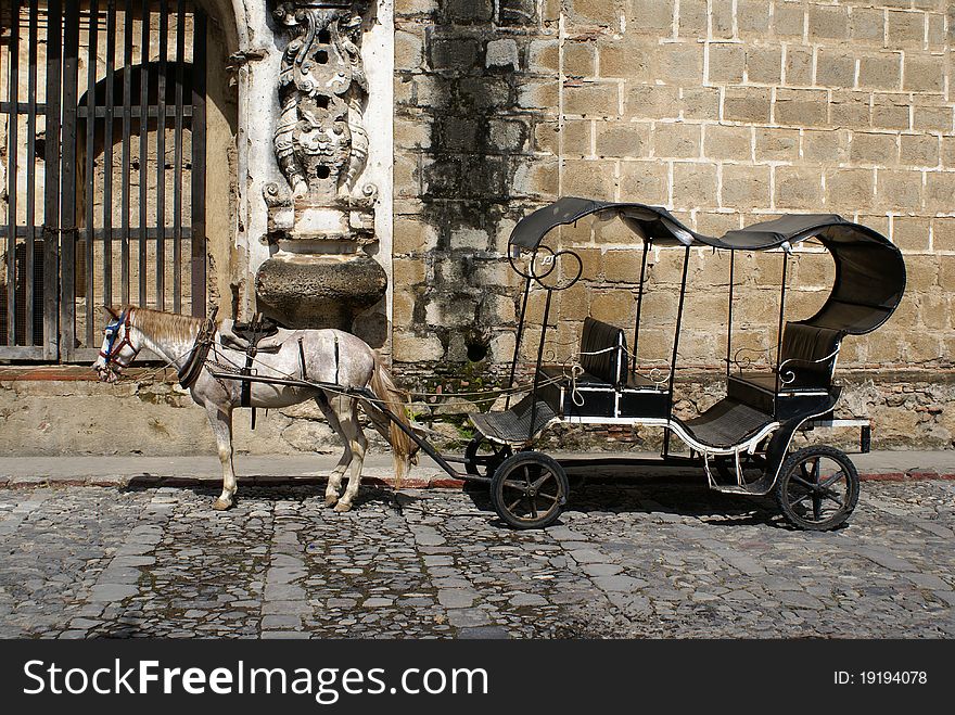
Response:
[[[566,503],[568,491],[563,468],[536,451],[509,457],[491,482],[495,510],[514,528],[544,528],[552,524]]]

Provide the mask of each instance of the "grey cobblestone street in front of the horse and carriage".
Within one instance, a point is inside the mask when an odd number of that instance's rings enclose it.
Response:
[[[483,494],[0,490],[0,636],[955,637],[955,482],[866,482],[850,525],[695,482],[590,484],[546,532]]]

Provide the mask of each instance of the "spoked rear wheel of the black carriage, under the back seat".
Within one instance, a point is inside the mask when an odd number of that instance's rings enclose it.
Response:
[[[835,447],[805,447],[782,463],[776,501],[793,526],[814,532],[836,528],[858,501],[858,472]]]

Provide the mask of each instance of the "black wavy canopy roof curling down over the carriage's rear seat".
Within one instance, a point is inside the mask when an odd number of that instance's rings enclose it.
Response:
[[[706,245],[727,251],[790,248],[815,238],[836,261],[836,280],[825,305],[802,322],[861,335],[894,312],[905,291],[902,252],[881,233],[835,214],[789,214],[721,238],[697,233],[660,206],[565,196],[525,216],[511,232],[510,245],[536,250],[553,228],[590,214],[613,213],[644,241],[662,245]]]

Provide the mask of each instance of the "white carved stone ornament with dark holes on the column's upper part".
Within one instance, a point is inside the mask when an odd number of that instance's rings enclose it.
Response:
[[[286,0],[272,10],[291,36],[282,54],[275,150],[294,200],[352,204],[368,158],[361,63],[370,0]],[[355,191],[362,203],[374,189]]]

